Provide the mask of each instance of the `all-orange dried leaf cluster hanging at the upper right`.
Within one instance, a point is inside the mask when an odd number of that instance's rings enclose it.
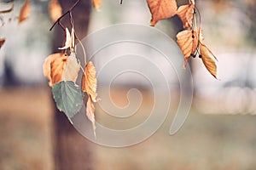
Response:
[[[175,14],[183,21],[184,31],[177,33],[177,43],[184,56],[184,65],[189,62],[191,57],[199,56],[213,77],[217,78],[218,59],[207,48],[202,37],[201,16],[199,10],[195,7],[195,0],[189,0],[189,4],[177,8],[176,0],[147,0],[148,8],[152,14],[151,26],[154,26],[159,20],[167,19]],[[196,26],[196,11],[198,11],[200,26]]]

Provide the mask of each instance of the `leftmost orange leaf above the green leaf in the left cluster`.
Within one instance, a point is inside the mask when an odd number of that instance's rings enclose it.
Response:
[[[61,82],[63,70],[67,63],[65,54],[51,54],[44,60],[44,76],[49,79],[49,86],[52,87],[56,82]]]

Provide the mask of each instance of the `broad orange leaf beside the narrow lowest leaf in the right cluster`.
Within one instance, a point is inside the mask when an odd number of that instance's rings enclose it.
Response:
[[[198,31],[185,30],[185,31],[178,32],[177,43],[184,55],[183,67],[185,68],[189,62],[191,55],[195,54],[195,50],[198,47],[198,44],[199,44]]]

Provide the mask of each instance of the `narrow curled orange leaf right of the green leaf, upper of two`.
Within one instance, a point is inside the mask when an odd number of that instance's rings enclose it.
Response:
[[[93,102],[96,102],[96,87],[96,68],[93,63],[89,61],[84,69],[82,90],[91,97]]]

